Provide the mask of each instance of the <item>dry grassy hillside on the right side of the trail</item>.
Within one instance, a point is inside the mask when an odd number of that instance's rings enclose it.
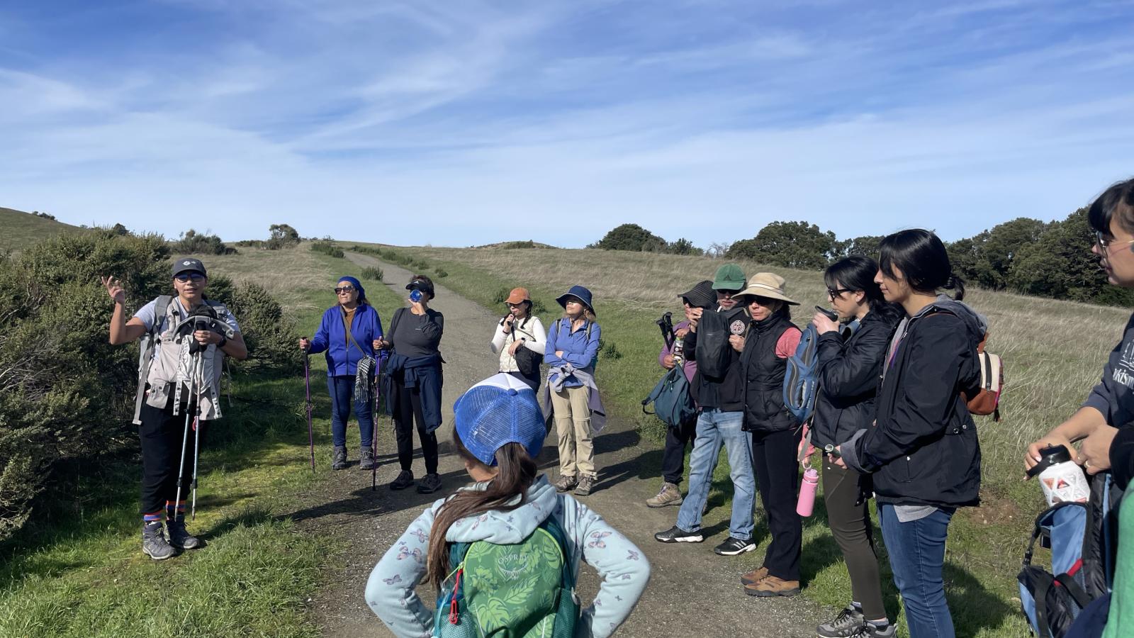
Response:
[[[513,286],[528,287],[533,300],[548,309],[544,317],[558,314],[555,297],[570,285],[590,287],[603,328],[596,371],[603,398],[619,418],[636,420],[643,433],[659,439],[660,422],[640,410],[640,401],[661,375],[655,359],[661,338],[653,320],[666,310],[677,312],[677,294],[711,278],[722,263],[703,257],[596,250],[412,247],[397,253],[413,259],[411,267],[418,271],[434,276],[443,271],[446,286],[501,312],[501,292]],[[786,277],[788,294],[802,303],[794,317],[799,325],[810,321],[813,305],[826,305],[820,272],[748,262],[742,267],[750,275],[772,270]],[[1081,404],[1128,311],[984,291],[972,291],[966,302],[989,318],[989,350],[1004,356],[1008,385],[1002,421],[978,418],[983,504],[954,518],[948,594],[958,636],[1026,636],[1014,599],[1015,576],[1034,514],[1044,504],[1039,486],[1022,480],[1024,448]],[[439,299],[438,308],[443,303]],[[728,517],[714,501],[727,500],[731,492],[723,460],[717,478],[710,500],[714,506],[705,523],[710,527]],[[767,524],[758,522],[756,538],[767,543]],[[762,546],[753,553],[751,566],[759,564],[763,551]],[[810,582],[807,596],[832,607],[846,604],[849,580],[821,510],[805,522],[803,569]],[[888,587],[892,614],[898,603],[892,585]]]

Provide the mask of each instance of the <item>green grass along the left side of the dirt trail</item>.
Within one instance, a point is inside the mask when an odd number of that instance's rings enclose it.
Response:
[[[336,277],[358,274],[306,247],[248,252],[202,259],[211,272],[271,287],[279,284],[272,274],[287,278],[290,263],[304,263],[308,279],[282,296],[306,335],[335,303]],[[401,303],[381,285],[367,294],[383,317]],[[0,636],[316,636],[306,601],[335,578],[345,547],[332,536],[297,532],[285,515],[297,493],[331,475],[325,364],[319,355],[311,363],[315,476],[302,375],[237,373],[235,405],[226,404],[201,457],[191,530],[209,546],[151,561],[139,551],[137,460],[75,468],[78,492],[59,495],[48,515],[0,548]]]

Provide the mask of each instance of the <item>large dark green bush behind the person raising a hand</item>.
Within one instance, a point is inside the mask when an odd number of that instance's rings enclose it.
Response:
[[[112,304],[99,276],[127,291],[128,312],[169,294],[169,244],[159,235],[95,229],[0,257],[0,540],[24,526],[35,497],[70,460],[133,450],[137,349],[108,343]],[[295,330],[271,295],[217,277],[210,299],[240,321],[251,363],[297,370]],[[57,493],[59,490],[56,490]]]

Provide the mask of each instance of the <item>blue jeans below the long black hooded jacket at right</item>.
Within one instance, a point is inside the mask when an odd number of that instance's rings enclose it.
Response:
[[[894,505],[879,503],[878,510],[909,638],[953,638],[953,616],[945,601],[941,573],[953,512],[939,509],[923,519],[900,522]]]

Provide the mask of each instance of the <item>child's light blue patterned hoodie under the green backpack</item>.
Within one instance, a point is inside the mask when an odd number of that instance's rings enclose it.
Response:
[[[477,485],[483,488],[484,484]],[[445,501],[437,501],[417,517],[374,565],[366,584],[366,604],[399,638],[429,638],[433,631],[434,610],[426,608],[414,589],[425,576],[433,518]],[[549,515],[556,517],[567,535],[575,574],[582,559],[602,577],[599,595],[583,610],[575,636],[610,636],[631,615],[645,590],[650,562],[602,517],[570,496],[557,494],[545,476],[535,479],[521,507],[462,519],[449,528],[446,540],[515,544],[527,538]]]

